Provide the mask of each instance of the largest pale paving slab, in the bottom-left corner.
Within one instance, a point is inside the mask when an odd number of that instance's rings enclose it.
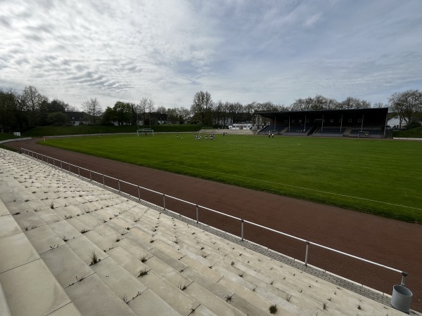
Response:
[[[48,315],[70,303],[41,259],[0,273],[0,282],[13,316]]]

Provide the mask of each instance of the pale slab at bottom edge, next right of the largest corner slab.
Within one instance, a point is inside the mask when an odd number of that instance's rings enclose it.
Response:
[[[136,315],[96,274],[72,284],[65,291],[84,316]]]

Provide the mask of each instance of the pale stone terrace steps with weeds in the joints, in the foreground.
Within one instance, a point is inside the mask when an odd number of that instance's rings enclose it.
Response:
[[[402,315],[30,157],[0,166],[1,315]]]

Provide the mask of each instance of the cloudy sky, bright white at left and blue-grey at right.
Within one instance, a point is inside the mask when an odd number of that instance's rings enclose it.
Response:
[[[422,1],[0,0],[0,88],[188,107],[422,89]]]

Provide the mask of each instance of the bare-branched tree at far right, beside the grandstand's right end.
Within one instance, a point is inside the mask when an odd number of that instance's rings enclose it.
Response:
[[[410,123],[416,114],[422,111],[422,92],[418,90],[396,92],[390,96],[388,103],[390,111],[397,113],[401,128],[403,122]]]

